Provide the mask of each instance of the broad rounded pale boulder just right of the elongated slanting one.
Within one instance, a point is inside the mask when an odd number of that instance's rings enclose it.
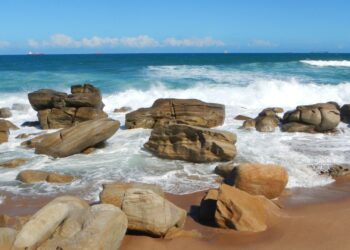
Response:
[[[38,250],[95,250],[118,249],[126,233],[128,220],[117,207],[108,204],[95,205],[87,209],[78,220],[68,217],[54,235]],[[71,231],[67,234],[67,230]],[[68,228],[68,229],[67,229]]]

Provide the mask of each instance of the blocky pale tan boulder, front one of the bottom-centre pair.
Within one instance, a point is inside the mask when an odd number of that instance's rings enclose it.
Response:
[[[170,228],[182,228],[186,211],[152,190],[130,188],[125,192],[122,211],[128,217],[128,229],[164,236]]]

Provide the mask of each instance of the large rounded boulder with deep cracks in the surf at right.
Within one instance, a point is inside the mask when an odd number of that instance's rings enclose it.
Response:
[[[329,132],[340,122],[340,110],[336,103],[318,103],[298,106],[283,116],[285,132]],[[290,124],[291,123],[291,124]]]

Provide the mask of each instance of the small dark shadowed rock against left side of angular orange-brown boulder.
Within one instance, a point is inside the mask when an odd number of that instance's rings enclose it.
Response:
[[[209,189],[206,196],[202,199],[199,209],[199,220],[205,224],[212,224],[215,219],[216,202],[218,200],[219,191],[217,189]]]

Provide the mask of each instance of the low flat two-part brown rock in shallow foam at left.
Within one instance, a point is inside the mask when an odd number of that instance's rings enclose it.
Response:
[[[51,183],[69,183],[75,178],[70,175],[62,175],[53,172],[40,171],[40,170],[24,170],[19,172],[17,180],[24,183],[36,183],[36,182],[51,182]]]

